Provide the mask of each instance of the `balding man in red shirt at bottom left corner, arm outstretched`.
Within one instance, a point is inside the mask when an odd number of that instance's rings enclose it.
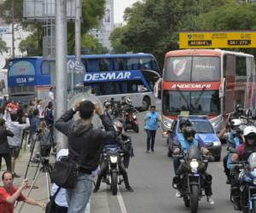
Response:
[[[3,187],[0,187],[0,212],[13,213],[15,209],[15,201],[23,201],[26,204],[38,205],[43,210],[45,204],[40,203],[34,199],[29,199],[21,192],[27,187],[27,180],[23,180],[20,187],[17,188],[13,185],[14,176],[9,172],[3,172],[2,176]]]

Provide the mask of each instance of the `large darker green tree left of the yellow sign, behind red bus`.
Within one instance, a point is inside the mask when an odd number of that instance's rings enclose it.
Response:
[[[167,51],[178,49],[178,32],[198,28],[195,17],[235,0],[144,0],[125,9],[126,26],[113,32],[115,52],[148,52],[160,64]]]

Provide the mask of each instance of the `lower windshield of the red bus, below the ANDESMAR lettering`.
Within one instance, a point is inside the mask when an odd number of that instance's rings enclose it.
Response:
[[[165,90],[163,94],[164,114],[178,115],[182,111],[189,111],[193,115],[218,115],[220,113],[218,90]]]

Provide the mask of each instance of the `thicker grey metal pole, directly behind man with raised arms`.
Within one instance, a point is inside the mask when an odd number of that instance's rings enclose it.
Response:
[[[67,110],[67,0],[55,1],[55,118]],[[57,150],[67,148],[67,137],[55,131]]]

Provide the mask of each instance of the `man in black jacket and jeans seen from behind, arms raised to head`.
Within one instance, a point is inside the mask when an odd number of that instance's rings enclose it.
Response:
[[[91,124],[94,110],[102,119],[105,130],[94,130]],[[79,112],[80,119],[73,121],[73,115]],[[73,109],[65,112],[55,122],[55,128],[68,137],[68,157],[79,166],[79,177],[73,189],[67,189],[69,213],[84,212],[90,199],[92,181],[90,175],[100,163],[100,153],[105,141],[112,140],[115,130],[112,122],[104,115],[102,107],[91,101],[76,103]]]

